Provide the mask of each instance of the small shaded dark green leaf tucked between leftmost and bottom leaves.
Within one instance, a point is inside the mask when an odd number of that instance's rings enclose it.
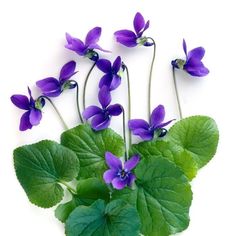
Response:
[[[77,186],[77,195],[74,195],[71,201],[60,204],[55,210],[55,216],[65,222],[77,206],[89,206],[98,199],[109,201],[110,193],[107,185],[96,178],[80,180]]]

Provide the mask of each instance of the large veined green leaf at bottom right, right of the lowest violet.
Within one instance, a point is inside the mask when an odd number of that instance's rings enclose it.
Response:
[[[191,186],[183,172],[161,158],[144,158],[136,167],[136,189],[115,191],[113,199],[134,205],[141,220],[141,232],[148,236],[168,236],[189,224]]]

